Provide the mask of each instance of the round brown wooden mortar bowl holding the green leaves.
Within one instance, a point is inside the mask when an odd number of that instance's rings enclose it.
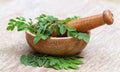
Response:
[[[51,37],[34,44],[35,35],[25,31],[28,45],[36,52],[54,56],[68,56],[80,53],[87,45],[84,40],[74,37]]]

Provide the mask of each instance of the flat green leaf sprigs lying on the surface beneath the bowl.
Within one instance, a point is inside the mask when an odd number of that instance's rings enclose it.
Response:
[[[22,64],[33,67],[44,66],[47,68],[54,68],[57,70],[68,70],[79,69],[78,65],[83,64],[83,62],[79,58],[80,57],[78,56],[60,57],[31,52],[29,54],[22,55],[20,60]]]

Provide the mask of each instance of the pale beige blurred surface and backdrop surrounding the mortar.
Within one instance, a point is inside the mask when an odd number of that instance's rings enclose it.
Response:
[[[0,72],[120,72],[120,0],[0,0]],[[91,31],[91,40],[80,54],[85,64],[79,70],[24,66],[19,58],[31,51],[24,32],[6,31],[10,18],[35,18],[41,13],[60,19],[86,17],[110,9],[114,24]]]

